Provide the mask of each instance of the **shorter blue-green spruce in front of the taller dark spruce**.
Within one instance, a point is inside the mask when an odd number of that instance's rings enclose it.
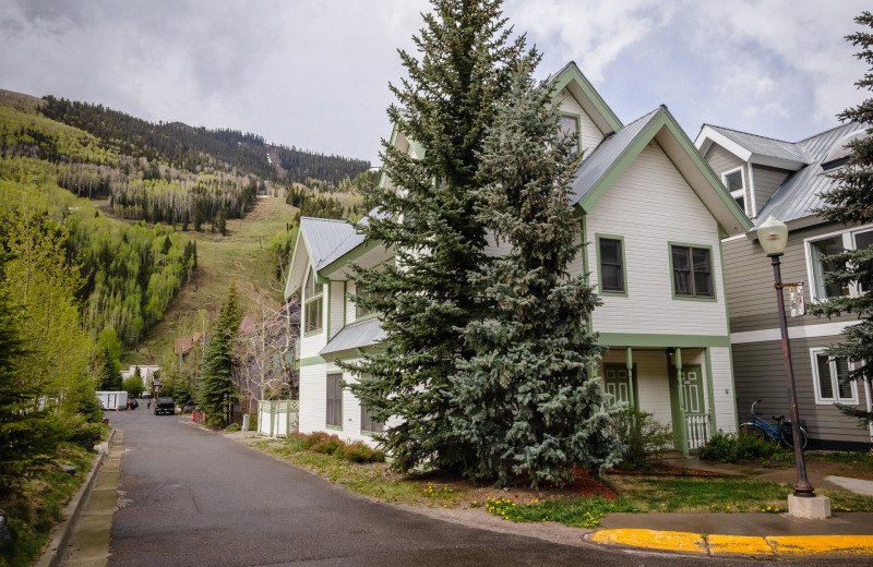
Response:
[[[587,328],[599,303],[585,275],[567,266],[582,238],[567,191],[578,170],[575,136],[558,126],[553,88],[522,69],[490,130],[478,192],[480,219],[512,246],[475,282],[493,311],[464,336],[476,355],[461,362],[455,427],[476,448],[474,476],[505,485],[528,474],[533,486],[597,473],[618,461],[611,406],[587,369],[603,347]]]

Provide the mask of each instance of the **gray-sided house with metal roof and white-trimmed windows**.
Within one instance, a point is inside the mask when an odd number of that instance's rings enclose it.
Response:
[[[873,225],[846,227],[825,221],[813,210],[818,196],[841,167],[846,144],[865,135],[858,124],[844,124],[791,143],[705,124],[695,145],[721,179],[737,204],[760,225],[774,217],[788,225],[788,246],[781,258],[782,281],[803,282],[806,304],[835,295],[854,295],[858,289],[826,286],[828,266],[822,255],[873,243]],[[722,241],[728,312],[730,316],[737,409],[740,421],[757,399],[760,413],[788,414],[788,395],[773,270],[755,237],[755,229]],[[841,386],[849,371],[846,359],[829,359],[823,349],[840,339],[854,315],[832,319],[789,316],[791,354],[801,420],[810,446],[860,449],[873,443],[873,427],[842,415],[835,403],[871,409],[863,384]]]

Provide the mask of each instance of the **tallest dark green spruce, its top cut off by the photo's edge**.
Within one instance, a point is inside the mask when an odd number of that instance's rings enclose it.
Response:
[[[423,17],[420,59],[399,51],[408,77],[391,86],[388,108],[423,155],[383,141],[388,182],[364,195],[380,213],[360,226],[395,254],[394,265],[355,274],[366,290],[358,304],[382,313],[384,351],[344,367],[361,376],[351,390],[376,419],[399,418],[381,437],[396,468],[466,469],[476,454],[453,432],[450,378],[470,355],[461,329],[488,312],[470,279],[487,262],[474,206],[479,152],[513,70],[531,53],[524,37],[511,39],[499,0],[433,0]]]

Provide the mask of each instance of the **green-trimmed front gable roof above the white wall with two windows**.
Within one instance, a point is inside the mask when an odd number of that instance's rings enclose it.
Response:
[[[663,105],[606,137],[594,149],[579,166],[571,204],[590,213],[653,140],[667,154],[726,234],[741,234],[752,227],[752,221],[731,198]]]

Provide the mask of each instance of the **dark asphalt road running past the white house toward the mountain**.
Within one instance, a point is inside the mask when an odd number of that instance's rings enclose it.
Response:
[[[109,565],[752,565],[559,545],[374,503],[143,403],[124,430]],[[811,565],[812,562],[804,562]],[[833,564],[832,564],[833,565]]]

